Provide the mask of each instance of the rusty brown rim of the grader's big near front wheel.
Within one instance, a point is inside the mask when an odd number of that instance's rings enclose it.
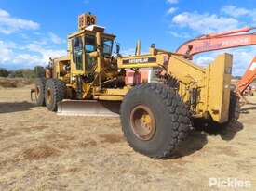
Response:
[[[139,105],[132,109],[130,124],[133,133],[141,140],[148,141],[155,135],[155,117],[150,108]]]

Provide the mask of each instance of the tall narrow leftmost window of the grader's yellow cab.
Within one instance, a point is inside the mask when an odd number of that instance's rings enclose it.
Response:
[[[73,46],[73,61],[76,70],[83,70],[83,41],[81,37],[75,37],[72,40]]]

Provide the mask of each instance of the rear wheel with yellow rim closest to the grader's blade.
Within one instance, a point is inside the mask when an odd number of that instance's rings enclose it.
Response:
[[[58,79],[49,79],[46,83],[45,100],[47,109],[57,111],[58,103],[66,96],[66,85]]]

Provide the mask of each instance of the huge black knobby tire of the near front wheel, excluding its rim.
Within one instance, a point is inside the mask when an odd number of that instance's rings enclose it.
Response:
[[[155,134],[141,140],[131,126],[132,110],[139,105],[150,108],[155,117]],[[123,133],[135,151],[154,159],[173,154],[191,129],[189,112],[181,97],[167,85],[145,83],[131,89],[121,105]]]

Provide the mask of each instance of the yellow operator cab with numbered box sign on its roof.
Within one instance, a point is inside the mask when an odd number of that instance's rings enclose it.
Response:
[[[104,33],[103,27],[95,25],[96,20],[96,16],[90,13],[80,15],[79,31],[68,36],[71,70],[74,74],[93,73],[97,68],[99,54],[104,59],[112,57],[115,35]]]

